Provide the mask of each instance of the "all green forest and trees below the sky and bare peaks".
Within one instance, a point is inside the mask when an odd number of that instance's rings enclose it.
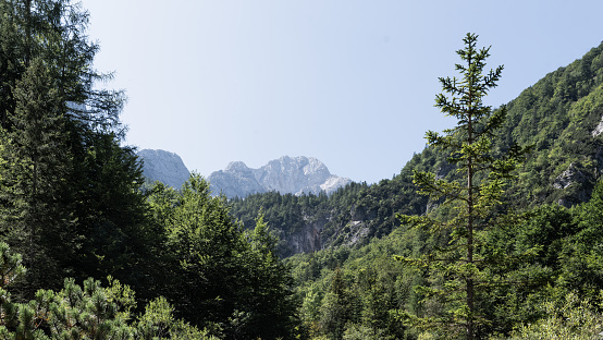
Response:
[[[229,201],[145,183],[79,4],[0,20],[1,339],[601,337],[603,45],[492,108],[467,34],[398,174]]]

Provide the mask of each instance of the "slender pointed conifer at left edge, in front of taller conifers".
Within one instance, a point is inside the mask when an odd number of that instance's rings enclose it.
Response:
[[[61,252],[51,248],[62,244],[61,236],[69,230],[70,214],[60,194],[66,191],[69,171],[66,132],[59,96],[42,60],[30,62],[13,93],[16,108],[9,120],[14,129],[5,134],[1,155],[1,194],[7,202],[1,230],[25,254],[28,283],[36,287],[42,278],[48,282],[59,274],[53,256]]]

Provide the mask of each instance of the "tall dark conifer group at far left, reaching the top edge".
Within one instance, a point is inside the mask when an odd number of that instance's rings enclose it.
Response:
[[[140,165],[120,146],[123,92],[96,87],[111,74],[93,68],[89,14],[71,0],[0,0],[0,238],[39,278],[29,293],[64,276],[141,281]]]

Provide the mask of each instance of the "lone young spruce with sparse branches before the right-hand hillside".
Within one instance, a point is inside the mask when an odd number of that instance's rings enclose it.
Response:
[[[443,94],[435,106],[446,116],[457,119],[457,125],[442,134],[428,131],[429,145],[448,155],[460,178],[446,181],[435,173],[414,171],[414,182],[421,194],[442,202],[454,211],[451,218],[439,218],[434,211],[423,216],[398,216],[403,223],[423,228],[429,233],[443,234],[448,242],[419,258],[398,256],[399,260],[427,269],[431,284],[417,287],[424,301],[436,312],[410,315],[405,319],[415,327],[429,329],[447,339],[479,338],[479,328],[488,323],[480,313],[480,292],[491,284],[487,278],[487,260],[479,253],[481,235],[494,228],[494,215],[501,205],[504,186],[516,168],[525,148],[510,147],[496,153],[492,147],[495,132],[502,126],[506,108],[492,110],[482,102],[496,86],[503,66],[484,74],[490,48],[476,48],[478,36],[467,34],[465,48],[457,51],[463,60],[456,64],[462,77],[441,77]],[[496,155],[499,154],[499,155]]]

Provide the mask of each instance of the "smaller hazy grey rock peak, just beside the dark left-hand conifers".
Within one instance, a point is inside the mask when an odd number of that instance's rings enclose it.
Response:
[[[151,182],[160,181],[181,189],[190,175],[180,156],[174,153],[143,149],[136,155],[143,159],[143,173]]]

